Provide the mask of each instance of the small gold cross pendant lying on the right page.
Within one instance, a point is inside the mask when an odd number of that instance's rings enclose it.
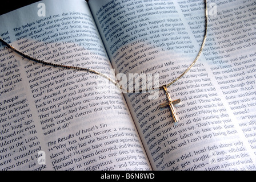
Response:
[[[165,90],[167,102],[164,103],[164,104],[161,104],[160,107],[161,108],[165,108],[167,106],[170,106],[171,115],[173,116],[174,125],[178,125],[178,117],[177,117],[177,115],[175,113],[174,105],[179,104],[179,102],[181,102],[181,99],[171,101],[170,92],[167,90],[167,86],[163,85],[162,87]]]

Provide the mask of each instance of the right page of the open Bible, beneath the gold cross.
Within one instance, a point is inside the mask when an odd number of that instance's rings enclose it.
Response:
[[[204,1],[89,1],[115,73],[165,85],[201,48]],[[206,46],[197,64],[163,90],[125,94],[155,170],[255,170],[255,8],[253,1],[209,1]],[[138,74],[138,75],[136,75]],[[147,77],[143,77],[143,74]],[[157,77],[158,76],[158,77]]]

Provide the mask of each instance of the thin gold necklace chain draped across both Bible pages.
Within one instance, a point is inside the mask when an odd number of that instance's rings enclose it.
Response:
[[[207,35],[207,25],[208,25],[208,13],[207,13],[207,2],[205,0],[205,35],[203,36],[203,42],[202,42],[202,45],[201,45],[201,48],[198,52],[198,55],[197,57],[195,57],[193,63],[180,75],[178,76],[177,78],[175,78],[175,80],[171,81],[169,84],[165,84],[167,87],[169,87],[170,85],[173,85],[176,81],[178,81],[180,78],[182,78],[188,71],[190,71],[191,68],[194,67],[195,63],[197,63],[197,60],[199,59],[202,51],[203,51],[203,47],[205,47],[205,42],[206,42],[206,35]],[[26,59],[29,59],[29,60],[32,60],[32,61],[35,61],[37,63],[41,63],[41,64],[45,64],[45,65],[49,65],[49,66],[52,66],[52,67],[61,67],[61,68],[66,68],[66,69],[75,69],[75,70],[78,70],[78,71],[86,71],[86,72],[90,72],[90,73],[94,73],[94,74],[97,74],[99,76],[102,76],[104,78],[106,78],[107,80],[113,82],[113,84],[115,84],[115,86],[118,86],[119,89],[123,90],[122,86],[118,84],[117,81],[115,81],[113,78],[107,76],[107,75],[104,75],[103,73],[101,72],[98,72],[98,71],[95,71],[93,69],[90,69],[90,68],[81,68],[81,67],[74,67],[74,66],[69,66],[69,65],[61,65],[61,64],[55,64],[55,63],[48,63],[46,61],[43,61],[43,60],[39,60],[39,59],[36,59],[34,57],[31,57],[29,55],[26,55],[25,53],[22,53],[20,51],[18,51],[17,49],[15,49],[13,46],[11,46],[10,44],[8,44],[7,42],[5,42],[5,40],[3,40],[1,37],[0,37],[0,41],[5,44],[7,47],[9,47],[10,49],[12,49],[13,51],[17,52],[19,55],[25,57]],[[151,90],[161,90],[163,89],[163,86],[159,86],[157,88],[152,88],[152,89],[145,89],[145,90],[139,90],[138,92],[139,93],[142,93],[142,92],[148,92],[148,91],[151,91]],[[124,90],[125,92],[127,93],[136,93],[137,90]]]

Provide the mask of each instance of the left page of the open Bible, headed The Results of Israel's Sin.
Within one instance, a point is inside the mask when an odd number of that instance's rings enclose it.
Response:
[[[41,1],[0,22],[1,38],[27,55],[111,73],[85,1]],[[1,170],[151,169],[114,84],[27,60],[2,43],[0,56]]]

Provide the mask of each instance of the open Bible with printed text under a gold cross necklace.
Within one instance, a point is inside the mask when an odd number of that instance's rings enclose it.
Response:
[[[160,107],[163,90],[122,93],[0,43],[0,169],[255,170],[256,3],[207,6],[203,53],[167,88],[181,101],[178,125]],[[161,86],[197,56],[204,9],[187,0],[40,1],[1,15],[0,36],[39,60]]]

